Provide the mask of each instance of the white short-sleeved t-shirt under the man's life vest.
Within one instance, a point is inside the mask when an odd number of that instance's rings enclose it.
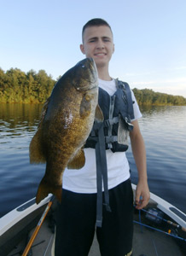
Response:
[[[99,87],[106,90],[109,95],[116,91],[115,80],[103,81],[99,79]],[[135,119],[142,117],[142,113],[137,105],[137,100],[131,90],[132,101],[134,102]],[[132,119],[132,120],[135,120]],[[95,148],[84,148],[85,165],[79,170],[66,169],[63,174],[62,187],[76,193],[96,193],[96,152]],[[124,182],[130,177],[130,167],[126,159],[125,152],[113,153],[110,149],[106,150],[108,163],[108,189],[112,189],[119,183]],[[102,188],[103,190],[103,188]]]

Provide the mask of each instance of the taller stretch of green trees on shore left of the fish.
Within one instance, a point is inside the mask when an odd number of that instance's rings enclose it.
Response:
[[[4,73],[0,68],[0,102],[43,103],[55,82],[44,70],[24,73],[18,68],[10,68]]]

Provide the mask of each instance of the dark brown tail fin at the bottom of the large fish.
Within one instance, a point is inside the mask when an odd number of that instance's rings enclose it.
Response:
[[[61,202],[61,185],[53,185],[49,183],[45,177],[43,177],[41,183],[38,186],[38,192],[36,195],[36,203],[38,204],[45,197],[49,195],[49,193],[55,195],[56,199]]]

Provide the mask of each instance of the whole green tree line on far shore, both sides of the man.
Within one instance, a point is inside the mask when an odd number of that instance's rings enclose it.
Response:
[[[55,83],[56,80],[44,70],[24,73],[18,68],[10,68],[7,72],[0,68],[0,102],[44,103]],[[139,105],[186,105],[186,98],[183,96],[137,88],[133,92]]]

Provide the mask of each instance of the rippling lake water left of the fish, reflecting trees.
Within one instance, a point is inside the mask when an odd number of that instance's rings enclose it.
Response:
[[[44,166],[29,163],[29,143],[41,104],[2,104],[0,108],[0,216],[35,196]]]

